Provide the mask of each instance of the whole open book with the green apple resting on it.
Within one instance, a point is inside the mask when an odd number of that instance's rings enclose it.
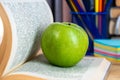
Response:
[[[0,80],[103,80],[109,69],[103,58],[85,57],[61,68],[49,64],[44,55],[34,57],[42,31],[53,22],[45,0],[1,0],[0,18]]]

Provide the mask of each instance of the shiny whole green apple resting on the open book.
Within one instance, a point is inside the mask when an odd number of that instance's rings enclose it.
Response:
[[[41,48],[48,61],[56,66],[70,67],[86,54],[87,33],[78,25],[54,22],[42,33]]]

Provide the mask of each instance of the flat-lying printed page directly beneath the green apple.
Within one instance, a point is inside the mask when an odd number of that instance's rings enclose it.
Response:
[[[102,62],[103,59],[101,58],[85,57],[77,65],[63,68],[51,65],[46,58],[41,55],[25,63],[12,74],[25,74],[48,80],[95,80],[92,77],[93,75],[96,76],[96,71]]]

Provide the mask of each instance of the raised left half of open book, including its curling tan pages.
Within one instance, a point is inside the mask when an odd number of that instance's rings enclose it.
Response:
[[[40,48],[42,31],[53,22],[46,0],[0,0],[0,76],[6,75]]]

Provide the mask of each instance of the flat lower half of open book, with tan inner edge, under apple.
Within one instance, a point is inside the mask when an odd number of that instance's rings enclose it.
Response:
[[[57,67],[41,54],[3,76],[2,80],[104,80],[109,66],[106,59],[84,57],[73,67]]]

